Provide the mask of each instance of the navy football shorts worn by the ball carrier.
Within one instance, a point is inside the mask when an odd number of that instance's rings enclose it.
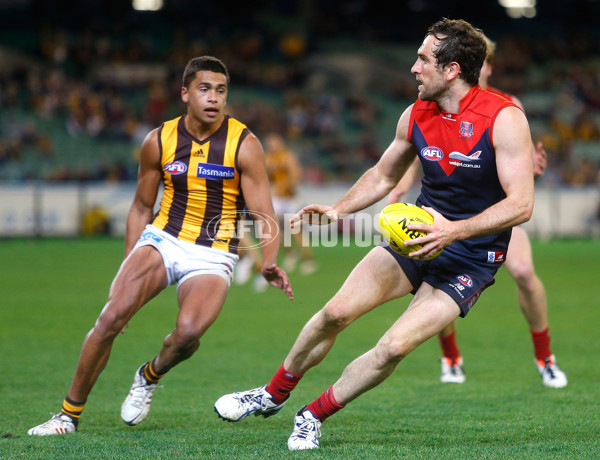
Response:
[[[458,304],[460,316],[463,318],[475,305],[481,293],[496,282],[494,275],[501,266],[468,259],[448,248],[434,259],[418,260],[401,256],[390,248],[386,241],[382,241],[378,246],[394,256],[413,285],[413,294],[425,281],[452,297]]]

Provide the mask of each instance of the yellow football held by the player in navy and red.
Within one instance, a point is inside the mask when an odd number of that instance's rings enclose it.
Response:
[[[423,208],[408,203],[393,203],[386,206],[379,214],[379,231],[385,241],[398,254],[408,256],[411,252],[418,251],[423,245],[415,244],[404,246],[404,241],[424,236],[424,232],[409,230],[409,224],[433,224],[433,216]],[[440,255],[442,251],[436,252],[429,259]]]

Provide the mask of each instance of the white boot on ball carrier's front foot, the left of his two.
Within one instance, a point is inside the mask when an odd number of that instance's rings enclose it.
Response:
[[[250,414],[271,417],[281,410],[287,399],[281,404],[275,404],[266,388],[265,385],[221,396],[215,403],[215,412],[229,422],[239,422]]]

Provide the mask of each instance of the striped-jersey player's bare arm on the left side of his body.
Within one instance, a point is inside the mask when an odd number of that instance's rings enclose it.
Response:
[[[152,219],[161,178],[162,170],[158,148],[158,130],[155,129],[146,136],[142,143],[138,184],[127,216],[125,257],[133,249],[144,227]]]

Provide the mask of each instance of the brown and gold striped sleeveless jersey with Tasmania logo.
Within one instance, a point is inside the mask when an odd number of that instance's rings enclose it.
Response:
[[[184,119],[159,128],[164,193],[152,224],[181,240],[235,254],[245,206],[237,155],[250,131],[226,115],[219,129],[200,141]]]

